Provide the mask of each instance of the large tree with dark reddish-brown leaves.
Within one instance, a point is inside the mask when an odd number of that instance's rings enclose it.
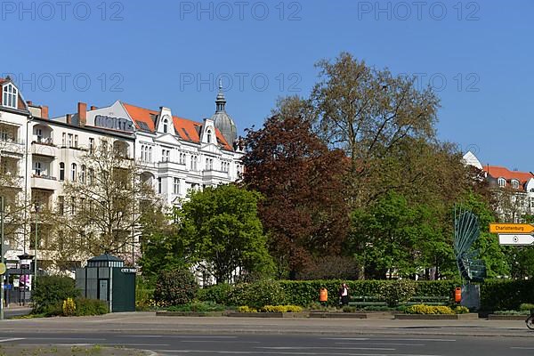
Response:
[[[247,131],[243,182],[263,194],[260,218],[281,276],[295,279],[314,257],[340,254],[349,229],[349,163],[301,117],[276,115]]]

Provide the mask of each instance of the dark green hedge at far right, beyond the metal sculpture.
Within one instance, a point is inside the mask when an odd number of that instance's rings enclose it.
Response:
[[[534,303],[534,279],[487,279],[481,283],[481,310],[519,310],[522,303]]]

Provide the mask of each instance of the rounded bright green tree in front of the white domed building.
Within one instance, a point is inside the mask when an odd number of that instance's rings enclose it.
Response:
[[[242,269],[250,276],[267,276],[273,264],[267,237],[257,215],[261,196],[236,185],[192,191],[178,215],[175,246],[193,253],[191,262],[205,262],[217,283]]]

